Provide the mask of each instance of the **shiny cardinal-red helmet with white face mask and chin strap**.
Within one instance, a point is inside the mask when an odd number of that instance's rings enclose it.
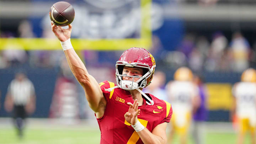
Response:
[[[122,76],[127,76],[122,75],[124,66],[143,68],[143,76],[129,76],[132,77],[133,80],[134,78],[140,78],[136,82],[123,80]],[[116,62],[117,85],[124,90],[137,89],[148,101],[150,101],[151,99],[148,98],[148,96],[146,96],[139,88],[146,87],[150,84],[155,72],[155,67],[155,59],[146,49],[136,47],[127,49]],[[150,105],[154,104],[152,100],[150,102]]]

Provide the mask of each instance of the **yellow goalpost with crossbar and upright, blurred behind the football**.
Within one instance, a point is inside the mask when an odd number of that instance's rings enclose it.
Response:
[[[141,0],[141,30],[140,38],[126,39],[75,39],[71,42],[75,50],[125,50],[130,47],[151,47],[151,0]],[[47,38],[0,38],[0,50],[58,50],[58,39]]]

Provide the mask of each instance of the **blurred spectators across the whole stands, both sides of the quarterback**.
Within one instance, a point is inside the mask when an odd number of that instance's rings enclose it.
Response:
[[[18,27],[20,38],[33,38],[33,26],[30,21],[22,21]],[[1,32],[1,38],[15,37],[14,33]],[[54,37],[50,27],[43,31],[43,38]],[[230,39],[230,40],[228,40]],[[212,33],[212,37],[186,33],[175,50],[168,50],[162,46],[158,36],[153,36],[153,46],[149,50],[153,53],[156,63],[168,65],[176,69],[188,66],[195,72],[199,71],[234,71],[242,72],[255,66],[255,44],[250,44],[241,32],[234,32],[227,38],[222,32]],[[87,65],[113,65],[122,51],[94,51],[80,52]],[[12,46],[0,51],[0,68],[10,68],[28,64],[31,67],[54,68],[60,64],[63,57],[62,50],[24,50],[21,46]]]

